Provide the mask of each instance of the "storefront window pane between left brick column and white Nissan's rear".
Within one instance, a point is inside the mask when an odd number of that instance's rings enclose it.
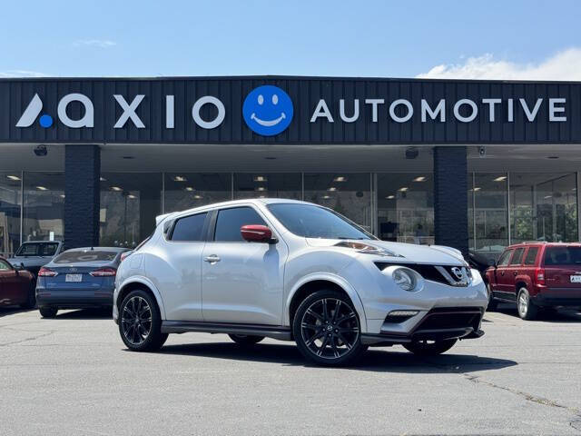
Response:
[[[102,173],[99,241],[135,247],[162,213],[162,173]]]

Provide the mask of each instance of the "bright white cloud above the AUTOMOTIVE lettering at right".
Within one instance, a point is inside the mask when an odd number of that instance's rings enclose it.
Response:
[[[440,64],[418,78],[498,80],[581,80],[581,48],[569,48],[540,64],[496,60],[493,54],[468,57],[464,64]]]

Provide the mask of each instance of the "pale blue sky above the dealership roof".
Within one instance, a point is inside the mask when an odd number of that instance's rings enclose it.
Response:
[[[506,78],[532,70],[579,80],[580,18],[578,0],[6,1],[0,76],[414,77],[499,68]]]

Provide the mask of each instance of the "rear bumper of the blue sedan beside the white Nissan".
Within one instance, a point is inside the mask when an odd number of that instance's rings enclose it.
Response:
[[[36,303],[59,309],[84,309],[113,305],[113,290],[85,291],[46,291],[36,290]]]

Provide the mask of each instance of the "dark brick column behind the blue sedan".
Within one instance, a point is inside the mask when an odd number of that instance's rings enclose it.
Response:
[[[99,145],[66,145],[64,151],[64,245],[99,245]]]

